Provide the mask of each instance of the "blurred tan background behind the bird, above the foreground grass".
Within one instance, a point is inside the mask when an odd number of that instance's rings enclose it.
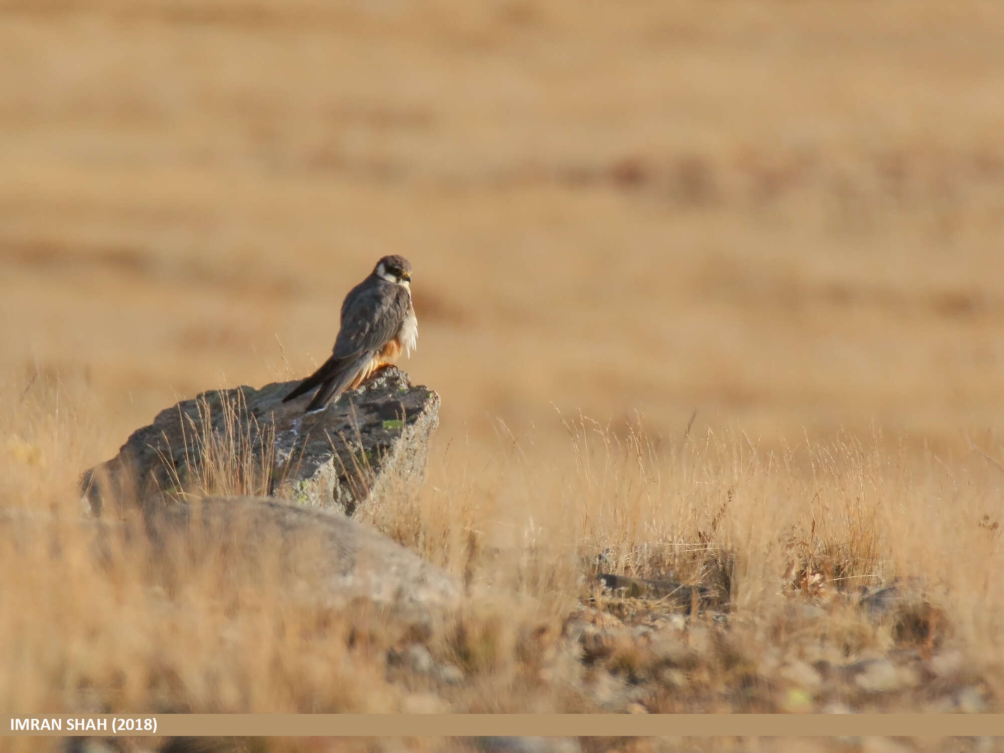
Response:
[[[445,442],[966,447],[1004,418],[1002,40],[987,2],[5,0],[0,379],[73,393],[96,462],[308,373],[401,253]]]

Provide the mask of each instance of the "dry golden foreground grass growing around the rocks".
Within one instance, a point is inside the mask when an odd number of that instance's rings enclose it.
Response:
[[[39,424],[55,421],[51,406],[38,411]],[[929,657],[958,650],[965,682],[1000,691],[1004,561],[993,468],[950,471],[854,440],[774,458],[741,432],[657,452],[640,429],[618,439],[587,420],[565,422],[568,445],[547,464],[523,451],[530,438],[512,440],[498,466],[477,475],[465,477],[448,453],[425,487],[389,495],[371,517],[475,594],[441,631],[416,636],[362,604],[345,614],[292,600],[269,551],[247,571],[234,569],[227,549],[194,564],[177,553],[166,567],[136,540],[112,540],[94,559],[90,536],[67,522],[72,469],[56,466],[47,496],[33,485],[48,453],[79,451],[72,414],[34,434],[29,417],[20,414],[4,474],[24,484],[7,497],[4,524],[14,545],[3,566],[18,575],[0,591],[3,703],[15,712],[602,710],[582,690],[600,670],[646,687],[651,711],[792,710],[775,677],[788,663],[837,668],[909,647]],[[813,472],[796,470],[803,466]],[[597,589],[588,578],[600,552],[607,571],[724,583],[724,592],[671,650],[598,635],[583,644],[583,669],[556,650],[577,603],[600,625],[688,610]],[[926,600],[881,619],[840,596],[908,578],[925,584]],[[728,614],[728,631],[716,630],[713,612]],[[389,675],[388,652],[416,640],[459,667],[462,686]],[[909,690],[859,708],[934,700]],[[804,703],[825,708],[839,697],[823,686]]]

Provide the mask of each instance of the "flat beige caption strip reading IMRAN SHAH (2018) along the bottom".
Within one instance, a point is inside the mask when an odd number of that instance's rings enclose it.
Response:
[[[13,720],[29,720],[29,730]],[[59,720],[32,731],[30,720]],[[69,721],[74,724],[72,727]],[[80,721],[84,725],[79,726]],[[91,720],[93,724],[87,724]],[[100,722],[103,720],[104,724]],[[156,724],[155,724],[156,723]],[[116,729],[112,731],[112,725]],[[152,727],[156,728],[151,729]],[[94,729],[96,728],[96,729]],[[132,729],[129,729],[132,728]],[[1004,714],[110,714],[0,717],[0,736],[1004,736]]]

